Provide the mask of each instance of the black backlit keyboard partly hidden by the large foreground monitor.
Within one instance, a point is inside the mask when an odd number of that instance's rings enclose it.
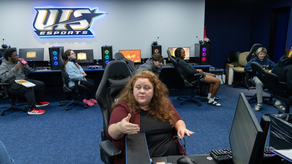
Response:
[[[273,148],[272,146],[265,147],[264,158],[270,158],[272,156],[275,156],[276,154],[272,152],[272,150],[274,149],[275,148]],[[215,160],[217,160],[219,164],[233,162],[231,149],[211,150],[210,154],[214,157]]]

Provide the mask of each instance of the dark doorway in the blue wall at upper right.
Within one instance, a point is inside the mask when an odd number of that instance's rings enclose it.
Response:
[[[285,55],[290,8],[291,6],[271,9],[272,20],[268,54],[270,60],[275,63]]]

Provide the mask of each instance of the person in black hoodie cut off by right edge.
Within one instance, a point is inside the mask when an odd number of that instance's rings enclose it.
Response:
[[[279,81],[287,83],[287,87],[292,93],[292,55],[290,57],[282,56],[272,73],[278,76]]]

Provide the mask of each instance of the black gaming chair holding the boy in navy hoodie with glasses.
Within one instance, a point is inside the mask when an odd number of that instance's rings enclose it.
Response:
[[[256,50],[258,48],[261,48],[263,47],[263,45],[261,44],[254,44],[252,47],[251,47],[251,50],[249,51],[248,55],[246,56],[246,61],[249,62],[252,58],[255,58],[257,55],[256,55]],[[267,59],[270,59],[270,56],[267,54],[266,55],[266,58]],[[248,70],[248,69],[245,69],[244,70],[246,72],[246,81],[247,81],[247,89],[250,90],[250,89],[256,89],[256,83],[253,81],[253,78],[252,78],[252,74],[253,74],[253,70]],[[251,78],[250,78],[251,77]],[[265,90],[265,86],[263,86],[263,90]],[[245,95],[245,97],[249,97],[250,99],[247,99],[248,103],[252,100],[257,100],[257,95]],[[269,99],[269,100],[266,100],[266,99]],[[271,105],[271,101],[272,101],[272,97],[269,97],[269,96],[263,96],[263,102],[266,102],[268,105]]]

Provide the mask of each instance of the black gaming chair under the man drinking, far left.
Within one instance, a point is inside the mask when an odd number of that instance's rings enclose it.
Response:
[[[9,111],[11,109],[18,109],[18,110],[22,110],[23,112],[27,112],[27,109],[25,109],[24,107],[22,107],[22,106],[27,105],[27,103],[25,103],[25,104],[19,104],[17,106],[15,105],[15,100],[18,97],[24,96],[24,95],[21,95],[21,94],[15,92],[14,90],[7,89],[7,86],[9,84],[10,83],[0,83],[0,86],[2,86],[3,89],[4,89],[4,95],[5,95],[5,97],[9,98],[9,100],[11,102],[11,106],[0,107],[0,109],[4,109],[4,110],[1,111],[1,116],[4,116],[4,112]]]

